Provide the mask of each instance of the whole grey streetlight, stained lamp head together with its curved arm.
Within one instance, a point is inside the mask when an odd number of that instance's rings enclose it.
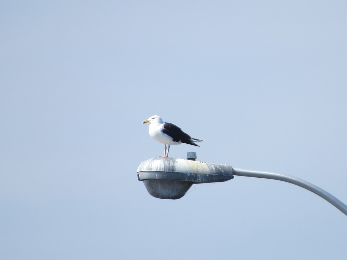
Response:
[[[226,164],[196,161],[196,153],[188,152],[187,159],[155,157],[143,161],[137,168],[137,179],[155,198],[182,198],[193,184],[228,181],[234,176],[246,176],[289,182],[312,191],[347,215],[347,205],[329,192],[297,177],[269,172],[248,171]]]

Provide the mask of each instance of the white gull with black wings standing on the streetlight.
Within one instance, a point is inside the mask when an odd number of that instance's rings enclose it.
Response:
[[[149,119],[144,120],[142,123],[151,123],[148,132],[150,136],[164,144],[164,155],[160,157],[168,157],[170,145],[179,145],[182,142],[189,145],[195,145],[195,142],[201,142],[203,140],[192,138],[187,133],[183,132],[178,126],[163,122],[159,115],[152,115]],[[166,145],[168,145],[168,151],[166,153]]]

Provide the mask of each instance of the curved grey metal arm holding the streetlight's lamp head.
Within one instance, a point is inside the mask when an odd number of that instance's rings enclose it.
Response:
[[[289,183],[298,185],[298,186],[300,186],[306,190],[312,191],[313,193],[315,193],[318,196],[322,197],[323,199],[327,200],[332,205],[334,205],[336,208],[341,210],[342,213],[347,215],[347,205],[346,204],[344,204],[342,201],[338,200],[336,197],[332,196],[329,192],[326,192],[325,190],[317,187],[316,185],[313,185],[310,182],[301,180],[297,177],[279,174],[279,173],[248,171],[248,170],[242,170],[242,169],[237,169],[237,168],[233,168],[233,174],[238,175],[238,176],[247,176],[247,177],[256,177],[256,178],[265,178],[265,179],[285,181],[285,182],[289,182]]]

